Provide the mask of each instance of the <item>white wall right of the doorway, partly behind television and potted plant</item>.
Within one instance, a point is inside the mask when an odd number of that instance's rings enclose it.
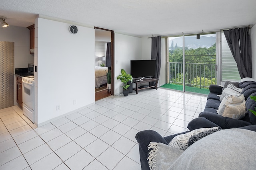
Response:
[[[119,33],[114,34],[114,95],[122,93],[122,83],[117,76],[124,69],[130,74],[130,61],[142,59],[142,39]]]

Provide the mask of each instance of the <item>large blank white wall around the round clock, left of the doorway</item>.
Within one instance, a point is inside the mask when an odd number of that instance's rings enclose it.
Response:
[[[50,25],[50,26],[49,26]],[[93,104],[94,29],[36,19],[35,22],[35,123],[38,126]],[[74,104],[76,100],[76,104]],[[56,106],[60,105],[60,110]]]

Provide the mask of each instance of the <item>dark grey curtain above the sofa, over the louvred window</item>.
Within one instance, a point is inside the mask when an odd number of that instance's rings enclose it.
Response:
[[[252,77],[252,47],[249,28],[224,30],[241,78]]]

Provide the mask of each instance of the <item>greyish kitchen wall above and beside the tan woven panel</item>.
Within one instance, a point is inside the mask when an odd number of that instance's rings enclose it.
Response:
[[[28,63],[34,63],[34,54],[30,54],[29,29],[24,27],[8,26],[0,27],[0,41],[14,42],[14,69],[28,67]],[[14,76],[16,84],[16,76]],[[16,87],[16,85],[14,85]],[[14,88],[14,104],[16,102],[16,88]]]

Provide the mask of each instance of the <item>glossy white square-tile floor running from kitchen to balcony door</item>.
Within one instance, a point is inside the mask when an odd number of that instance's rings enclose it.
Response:
[[[138,131],[187,130],[206,96],[164,88],[110,96],[36,128],[18,106],[0,109],[0,170],[140,170]]]

